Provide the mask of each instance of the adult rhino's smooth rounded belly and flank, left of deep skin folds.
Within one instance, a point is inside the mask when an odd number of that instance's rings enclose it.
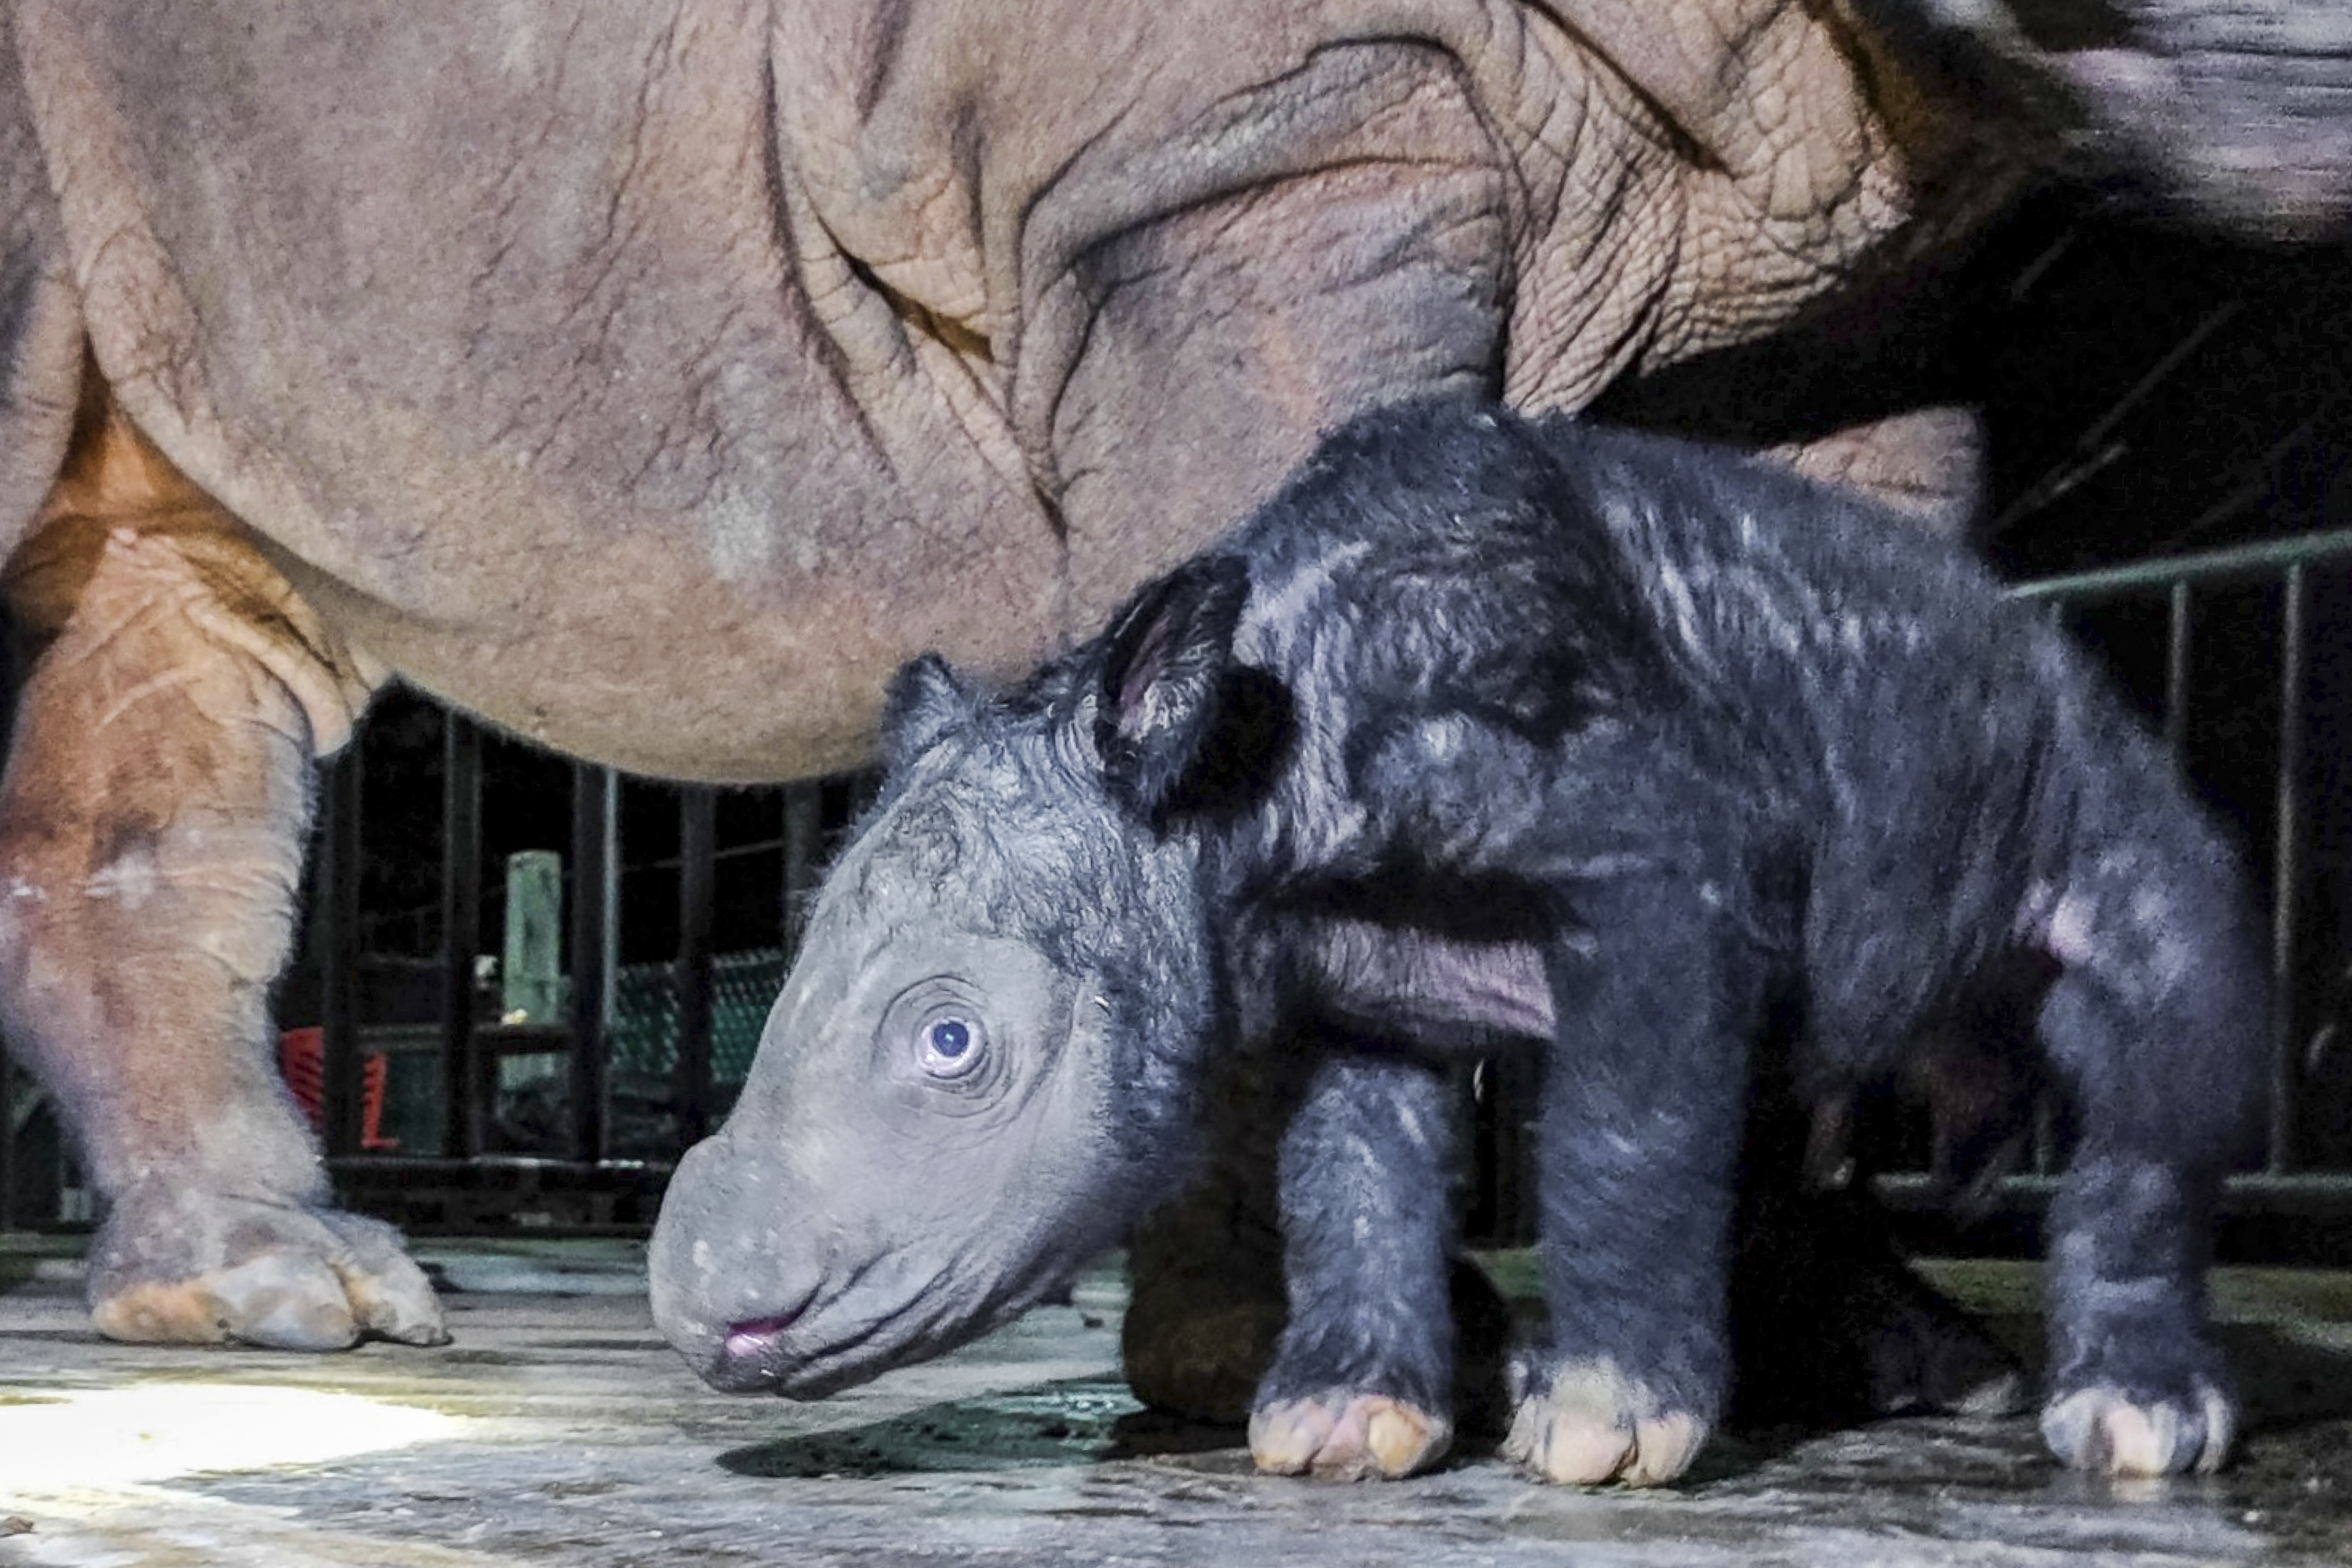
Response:
[[[28,14],[132,423],[367,654],[619,766],[830,769],[898,658],[1035,658],[1002,414],[774,212],[767,12],[428,9]]]

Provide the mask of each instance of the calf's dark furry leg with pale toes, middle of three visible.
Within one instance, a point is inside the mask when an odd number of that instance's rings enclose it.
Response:
[[[1536,1135],[1552,1324],[1517,1368],[1503,1453],[1550,1481],[1658,1486],[1705,1443],[1731,1378],[1733,1168],[1762,973],[1696,886],[1644,872],[1576,893],[1552,992]]]

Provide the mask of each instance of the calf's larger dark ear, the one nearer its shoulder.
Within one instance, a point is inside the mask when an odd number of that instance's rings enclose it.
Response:
[[[1247,602],[1247,567],[1207,555],[1148,583],[1110,625],[1094,750],[1110,797],[1155,827],[1270,762],[1270,682],[1232,663]]]

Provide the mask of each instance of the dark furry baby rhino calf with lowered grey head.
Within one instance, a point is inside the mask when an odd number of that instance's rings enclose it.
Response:
[[[2079,1147],[2042,1429],[2211,1469],[2216,1182],[2258,1110],[2230,849],[1962,552],[1696,447],[1432,402],[1357,418],[1221,548],[1002,696],[896,679],[889,783],[727,1128],[654,1237],[722,1387],[816,1396],[1037,1300],[1183,1180],[1256,1053],[1291,1321],[1268,1469],[1451,1434],[1449,1053],[1545,1056],[1550,1333],[1508,1450],[1679,1474],[1724,1408],[1750,1058],[1893,1074],[2030,959]]]

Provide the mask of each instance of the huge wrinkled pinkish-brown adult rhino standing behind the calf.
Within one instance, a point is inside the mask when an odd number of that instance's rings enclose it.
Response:
[[[310,764],[386,679],[804,776],[908,654],[1035,663],[1374,400],[1583,407],[2044,153],[2340,207],[2333,0],[2077,5],[2079,56],[1938,2],[21,0],[0,1016],[108,1201],[99,1328],[442,1338],[266,1051]],[[1950,421],[1783,425],[1964,505]]]

